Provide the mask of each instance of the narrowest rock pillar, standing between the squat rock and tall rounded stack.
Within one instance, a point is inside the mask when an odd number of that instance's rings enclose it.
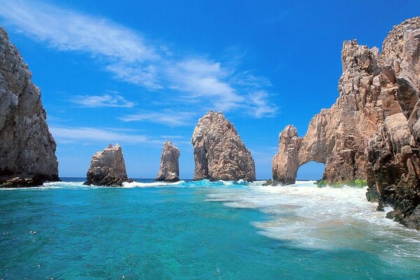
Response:
[[[179,148],[176,148],[170,141],[165,141],[165,144],[163,144],[160,169],[156,181],[179,181]]]

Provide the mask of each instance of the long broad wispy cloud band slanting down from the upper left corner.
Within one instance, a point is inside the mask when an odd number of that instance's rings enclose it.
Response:
[[[118,80],[150,90],[175,90],[179,102],[207,109],[247,112],[255,118],[274,116],[271,83],[250,71],[238,71],[205,57],[179,57],[136,31],[106,18],[26,0],[0,0],[0,17],[11,27],[58,50],[80,51],[100,58]],[[178,57],[178,58],[174,58]],[[249,98],[253,97],[253,98]]]

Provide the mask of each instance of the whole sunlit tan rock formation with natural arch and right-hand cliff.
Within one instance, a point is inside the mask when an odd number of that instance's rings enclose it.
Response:
[[[377,48],[346,41],[339,97],[299,138],[280,134],[274,181],[293,183],[300,165],[325,164],[329,183],[367,179],[367,199],[392,206],[390,218],[420,227],[420,18],[393,27]]]

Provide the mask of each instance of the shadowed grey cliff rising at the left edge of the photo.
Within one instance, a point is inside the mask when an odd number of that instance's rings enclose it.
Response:
[[[0,27],[0,187],[57,181],[56,144],[41,92],[22,56]]]

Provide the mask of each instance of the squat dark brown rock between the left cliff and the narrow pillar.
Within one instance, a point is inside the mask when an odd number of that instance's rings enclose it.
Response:
[[[132,182],[132,180],[127,178],[123,149],[120,145],[109,144],[104,151],[92,156],[85,185],[123,186],[124,182]]]

